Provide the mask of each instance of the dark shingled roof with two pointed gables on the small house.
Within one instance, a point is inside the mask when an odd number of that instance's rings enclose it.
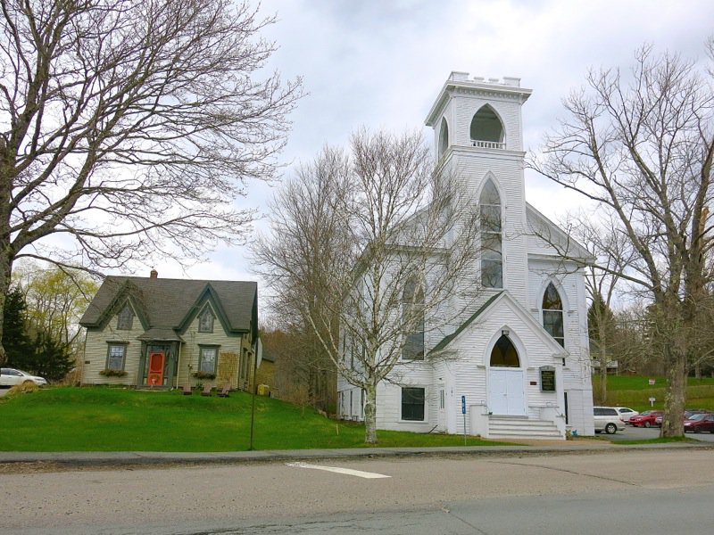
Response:
[[[107,276],[79,325],[102,328],[125,300],[137,309],[145,331],[181,332],[211,302],[228,333],[257,333],[258,284],[138,276]]]

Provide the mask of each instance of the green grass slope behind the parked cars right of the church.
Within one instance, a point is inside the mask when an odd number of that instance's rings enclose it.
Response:
[[[649,379],[654,379],[650,385]],[[602,402],[597,399],[599,377],[593,377],[593,391],[597,404],[610,407],[632,407],[643,411],[648,408],[664,407],[664,377],[648,377],[645,375],[609,375],[608,398]],[[649,398],[654,398],[654,407],[650,407]],[[714,378],[694,379],[689,377],[686,389],[686,406],[691,408],[706,408],[714,411]]]

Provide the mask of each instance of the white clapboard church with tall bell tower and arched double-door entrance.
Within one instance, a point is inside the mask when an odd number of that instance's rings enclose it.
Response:
[[[484,438],[594,434],[583,264],[588,252],[526,202],[519,78],[452,72],[428,112],[440,165],[458,169],[498,246],[483,253],[481,292],[425,355],[377,392],[377,427]],[[547,236],[547,239],[544,239]],[[552,243],[567,245],[565,260]],[[405,372],[408,369],[408,372]],[[338,378],[338,413],[363,418],[362,392]]]

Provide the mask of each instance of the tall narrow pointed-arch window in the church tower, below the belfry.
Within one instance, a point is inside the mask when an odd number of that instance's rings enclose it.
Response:
[[[481,284],[503,287],[501,196],[489,178],[478,200],[481,225]]]

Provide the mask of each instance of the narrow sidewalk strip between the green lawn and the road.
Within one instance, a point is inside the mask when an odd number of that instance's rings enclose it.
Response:
[[[516,440],[514,440],[516,442]],[[253,463],[304,459],[345,459],[359,457],[494,456],[544,455],[578,452],[622,451],[627,449],[714,449],[706,442],[668,442],[619,445],[605,440],[518,440],[514,446],[470,446],[442,448],[354,448],[354,449],[272,449],[261,451],[164,452],[164,451],[67,451],[0,452],[3,463],[56,463],[63,465],[162,465],[189,463]]]

